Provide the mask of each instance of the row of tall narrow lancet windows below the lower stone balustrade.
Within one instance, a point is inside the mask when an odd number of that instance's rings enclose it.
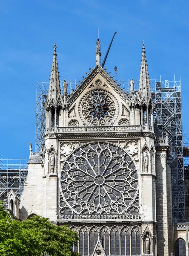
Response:
[[[97,231],[97,227],[92,228],[92,230],[87,230],[86,227],[83,227],[79,232],[79,253],[82,256],[92,255],[98,235],[106,256],[137,256],[141,254],[139,227],[135,227],[132,231],[127,227],[122,229],[114,227],[112,230],[103,227],[100,232]],[[77,251],[76,249],[74,247],[74,251]]]

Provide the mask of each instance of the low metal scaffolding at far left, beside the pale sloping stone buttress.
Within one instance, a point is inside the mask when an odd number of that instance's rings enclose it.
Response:
[[[0,200],[6,198],[12,189],[18,198],[23,192],[24,182],[28,173],[26,158],[0,158]]]

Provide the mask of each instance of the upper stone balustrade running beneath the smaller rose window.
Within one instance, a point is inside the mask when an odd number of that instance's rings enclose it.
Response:
[[[146,128],[146,127],[145,127]],[[47,128],[46,132],[117,132],[117,131],[140,131],[140,125],[128,126],[76,126],[76,127],[51,127]],[[150,129],[151,131],[152,129]]]

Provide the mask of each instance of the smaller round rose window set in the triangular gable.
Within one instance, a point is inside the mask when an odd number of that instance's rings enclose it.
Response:
[[[112,93],[90,92],[80,101],[80,115],[89,125],[108,125],[115,119],[118,103]]]

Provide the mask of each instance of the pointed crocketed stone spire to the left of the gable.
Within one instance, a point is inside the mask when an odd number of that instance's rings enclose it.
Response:
[[[56,103],[57,97],[60,95],[60,80],[59,80],[59,72],[58,72],[58,64],[57,64],[57,47],[54,44],[54,52],[52,59],[52,70],[50,75],[49,82],[49,93],[48,100],[51,102],[52,100]]]

